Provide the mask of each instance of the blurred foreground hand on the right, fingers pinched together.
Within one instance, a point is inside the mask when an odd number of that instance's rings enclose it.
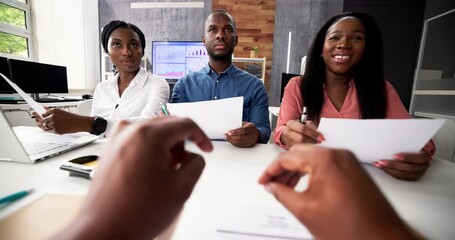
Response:
[[[309,174],[308,188],[294,190]],[[316,239],[412,239],[357,159],[345,150],[296,145],[259,179]]]

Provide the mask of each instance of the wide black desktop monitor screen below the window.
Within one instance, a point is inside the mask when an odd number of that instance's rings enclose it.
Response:
[[[66,67],[9,59],[11,77],[26,93],[68,93]]]

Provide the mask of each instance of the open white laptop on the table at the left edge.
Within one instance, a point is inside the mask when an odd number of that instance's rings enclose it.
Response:
[[[98,139],[89,133],[55,134],[38,127],[11,127],[0,110],[0,161],[36,163]]]

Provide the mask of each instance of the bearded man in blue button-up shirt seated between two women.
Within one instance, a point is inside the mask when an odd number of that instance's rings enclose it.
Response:
[[[233,17],[224,10],[215,10],[205,20],[204,29],[202,42],[209,63],[175,84],[171,102],[243,96],[242,127],[228,131],[225,139],[237,147],[267,143],[270,138],[267,91],[257,77],[232,64],[232,53],[238,42]]]

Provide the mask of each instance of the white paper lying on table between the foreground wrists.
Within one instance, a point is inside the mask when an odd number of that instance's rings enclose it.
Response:
[[[305,240],[314,237],[297,218],[273,205],[227,202],[192,203],[172,239]],[[184,213],[185,214],[185,213]]]

